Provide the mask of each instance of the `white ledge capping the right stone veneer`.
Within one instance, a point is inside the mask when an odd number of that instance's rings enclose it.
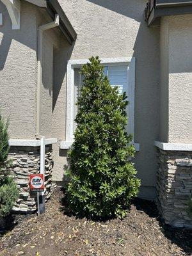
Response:
[[[165,151],[192,151],[192,143],[164,143],[155,141],[155,146]]]

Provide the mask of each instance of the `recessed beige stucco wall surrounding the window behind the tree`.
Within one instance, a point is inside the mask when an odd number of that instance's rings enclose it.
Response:
[[[140,152],[135,163],[142,196],[153,197],[157,166],[154,140],[159,132],[159,28],[147,28],[143,20],[145,0],[60,0],[60,4],[77,31],[76,44],[66,49],[68,60],[95,55],[136,57],[135,142],[140,143]],[[57,125],[54,136],[60,141],[65,140],[64,84],[57,90],[53,123]],[[54,179],[62,180],[65,150],[60,150],[57,161]]]

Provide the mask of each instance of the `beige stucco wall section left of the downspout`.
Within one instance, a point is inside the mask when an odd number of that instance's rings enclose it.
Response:
[[[0,109],[10,116],[11,138],[34,138],[36,95],[36,7],[21,2],[20,30],[12,22],[4,4],[0,27]]]

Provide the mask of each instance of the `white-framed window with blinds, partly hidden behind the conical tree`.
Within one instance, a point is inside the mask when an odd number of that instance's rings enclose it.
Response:
[[[77,113],[75,102],[79,97],[79,88],[83,86],[83,77],[79,74],[81,66],[88,60],[69,60],[67,64],[67,116],[65,141],[61,141],[61,148],[69,148],[74,141],[74,118]],[[104,73],[109,78],[111,86],[118,86],[119,93],[126,92],[129,106],[127,132],[133,135],[134,143],[134,87],[135,87],[135,59],[134,58],[109,58],[101,59]],[[137,151],[140,145],[134,143]]]

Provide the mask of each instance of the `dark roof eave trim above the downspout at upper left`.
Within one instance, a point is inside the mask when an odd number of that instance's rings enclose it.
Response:
[[[52,20],[54,20],[56,13],[60,16],[60,29],[63,32],[63,35],[67,38],[69,44],[72,45],[77,38],[77,33],[65,15],[65,12],[63,12],[63,9],[57,0],[46,0],[46,2],[47,11],[49,12]]]

